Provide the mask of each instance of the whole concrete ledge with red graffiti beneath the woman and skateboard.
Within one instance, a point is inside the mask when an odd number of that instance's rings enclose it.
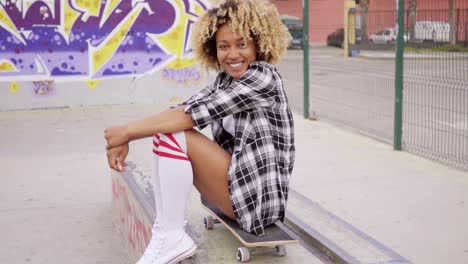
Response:
[[[150,142],[132,145],[128,169],[112,172],[114,223],[125,241],[126,251],[135,262],[151,239],[156,215]],[[199,193],[194,189],[187,206],[187,232],[197,244],[191,263],[237,263],[240,242],[222,225],[206,230]],[[328,212],[294,190],[290,191],[285,228],[301,244],[288,246],[288,255],[258,254],[250,263],[410,263],[391,249]]]

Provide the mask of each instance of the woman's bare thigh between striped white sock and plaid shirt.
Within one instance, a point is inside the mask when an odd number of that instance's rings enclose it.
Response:
[[[208,201],[235,219],[227,183],[231,155],[194,129],[186,130],[185,137],[187,155],[192,163],[193,184]]]

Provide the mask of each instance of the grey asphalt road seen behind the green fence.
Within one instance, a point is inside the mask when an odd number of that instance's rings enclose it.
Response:
[[[468,168],[468,59],[443,55],[443,59],[405,60],[403,146]],[[311,117],[393,144],[394,59],[344,58],[342,49],[312,47],[309,63]],[[301,50],[288,51],[278,65],[292,108],[300,113],[302,65]]]

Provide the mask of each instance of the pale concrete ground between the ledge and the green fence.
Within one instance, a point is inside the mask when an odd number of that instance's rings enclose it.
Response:
[[[296,116],[292,188],[413,263],[468,263],[468,173]]]

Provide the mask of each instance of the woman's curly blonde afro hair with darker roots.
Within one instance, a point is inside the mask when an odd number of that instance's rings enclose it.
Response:
[[[257,45],[257,60],[277,63],[287,50],[291,35],[276,7],[268,0],[226,0],[206,11],[195,23],[194,53],[208,69],[220,70],[216,56],[216,32],[228,23],[244,39]]]

